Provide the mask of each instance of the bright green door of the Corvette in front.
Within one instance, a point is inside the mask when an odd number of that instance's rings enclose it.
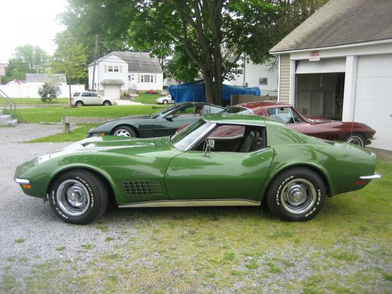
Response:
[[[237,132],[224,133],[238,137]],[[272,148],[246,153],[213,150],[205,155],[185,151],[169,162],[165,185],[171,200],[257,201],[272,162]]]

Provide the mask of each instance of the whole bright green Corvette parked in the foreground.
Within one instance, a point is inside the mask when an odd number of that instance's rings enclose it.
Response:
[[[308,137],[268,118],[200,118],[172,137],[92,137],[20,165],[15,181],[49,200],[67,223],[118,207],[260,206],[285,221],[307,221],[325,197],[359,190],[376,155]]]

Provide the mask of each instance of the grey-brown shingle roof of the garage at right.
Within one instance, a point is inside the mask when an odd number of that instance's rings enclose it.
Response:
[[[269,52],[392,38],[391,0],[330,0]]]

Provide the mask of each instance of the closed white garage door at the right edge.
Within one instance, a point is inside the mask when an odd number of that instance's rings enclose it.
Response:
[[[392,54],[358,57],[354,120],[377,131],[371,147],[392,150]]]

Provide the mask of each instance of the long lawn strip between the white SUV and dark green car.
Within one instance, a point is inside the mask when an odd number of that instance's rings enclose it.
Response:
[[[158,109],[152,106],[83,106],[83,107],[41,107],[35,109],[17,109],[18,118],[23,123],[59,123],[62,116],[94,116],[118,118],[134,114],[154,113]]]

